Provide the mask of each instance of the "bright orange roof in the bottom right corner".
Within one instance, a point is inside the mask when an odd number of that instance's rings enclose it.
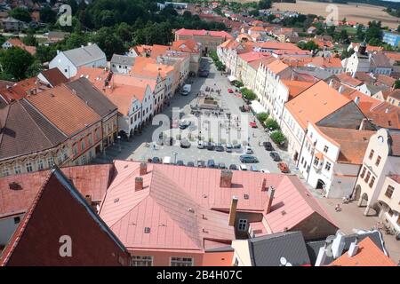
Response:
[[[396,266],[395,262],[386,256],[370,238],[358,243],[355,256],[343,254],[329,264],[330,266]]]

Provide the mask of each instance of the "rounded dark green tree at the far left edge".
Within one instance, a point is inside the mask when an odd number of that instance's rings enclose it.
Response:
[[[20,48],[6,50],[0,57],[3,71],[12,75],[16,81],[27,77],[26,72],[28,67],[32,65],[34,60],[34,57],[28,51]]]

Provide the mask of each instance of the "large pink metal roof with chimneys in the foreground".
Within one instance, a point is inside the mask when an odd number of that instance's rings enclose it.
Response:
[[[239,199],[238,211],[263,214],[268,201],[268,193],[261,191],[264,178],[276,188],[273,211],[266,215],[273,232],[290,229],[314,213],[332,223],[294,176],[234,171],[232,187],[221,188],[220,170],[148,164],[144,188],[135,192],[139,165],[115,162],[116,177],[100,209],[100,217],[127,248],[204,249],[207,239],[226,244],[234,239],[227,214],[232,196]],[[152,233],[143,233],[146,226]]]

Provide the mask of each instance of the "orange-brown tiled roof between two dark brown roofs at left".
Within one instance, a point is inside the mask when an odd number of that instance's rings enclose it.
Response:
[[[101,119],[64,84],[29,96],[27,100],[68,137]]]

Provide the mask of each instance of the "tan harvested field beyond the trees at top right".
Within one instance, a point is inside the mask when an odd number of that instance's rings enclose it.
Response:
[[[312,13],[326,18],[329,12],[326,12],[326,7],[329,3],[297,1],[297,3],[274,3],[272,10],[279,11],[296,11],[303,14]],[[354,20],[357,23],[368,24],[371,20],[382,21],[382,27],[397,28],[400,24],[400,19],[384,12],[384,7],[372,6],[368,4],[334,4],[338,7],[339,19]]]

